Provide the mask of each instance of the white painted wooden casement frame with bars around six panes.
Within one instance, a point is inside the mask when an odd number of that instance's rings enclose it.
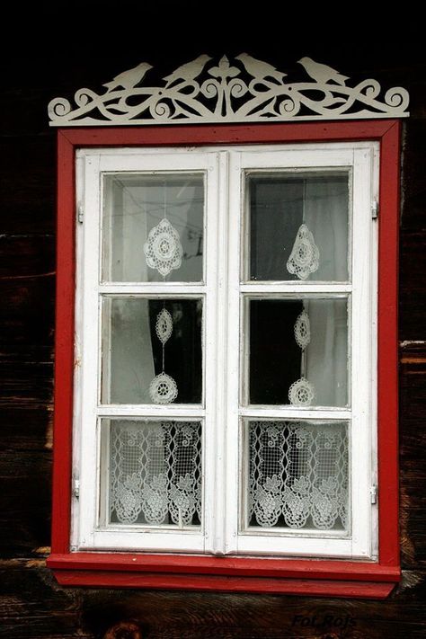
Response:
[[[77,205],[84,224],[76,228],[75,405],[73,476],[79,495],[72,508],[73,550],[133,550],[212,555],[288,555],[377,559],[377,507],[370,488],[377,481],[377,200],[378,143],[351,142],[163,148],[90,148],[76,156]],[[244,172],[345,167],[352,175],[352,284],[241,282],[244,245]],[[102,172],[200,171],[206,175],[205,281],[200,284],[100,283]],[[355,256],[355,258],[353,257]],[[101,405],[100,295],[204,297],[204,405]],[[351,294],[351,409],[239,405],[241,297],[252,294]],[[239,321],[235,321],[239,318]],[[355,356],[356,354],[356,356]],[[224,374],[225,371],[225,374]],[[356,383],[355,383],[356,382]],[[101,527],[99,420],[109,417],[198,418],[203,422],[203,504],[200,529]],[[239,530],[243,417],[351,419],[351,537],[304,529]],[[225,424],[224,428],[220,425]],[[355,433],[357,436],[355,436]],[[366,450],[368,456],[366,457]],[[95,451],[95,455],[93,455]]]

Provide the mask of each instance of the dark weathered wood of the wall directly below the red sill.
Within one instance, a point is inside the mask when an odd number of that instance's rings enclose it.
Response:
[[[135,637],[130,631],[139,631],[146,639],[420,639],[426,631],[424,572],[407,573],[400,589],[385,602],[63,589],[37,560],[3,562],[0,580],[4,591],[0,636],[13,638],[68,637],[74,633],[123,639]]]

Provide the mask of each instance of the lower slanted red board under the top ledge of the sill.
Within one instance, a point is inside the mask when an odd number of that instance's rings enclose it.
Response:
[[[215,575],[175,575],[129,572],[55,571],[58,582],[69,586],[95,588],[149,588],[155,590],[225,590],[260,594],[291,594],[310,597],[344,597],[386,599],[395,583],[363,581],[312,581],[297,579],[262,579],[259,577],[217,577]]]

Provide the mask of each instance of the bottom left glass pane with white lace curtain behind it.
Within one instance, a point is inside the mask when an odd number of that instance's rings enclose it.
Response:
[[[102,420],[102,427],[103,463],[109,469],[102,472],[104,519],[200,527],[201,423]]]

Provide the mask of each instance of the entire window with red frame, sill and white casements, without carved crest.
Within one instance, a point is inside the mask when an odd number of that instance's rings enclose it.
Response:
[[[59,134],[59,579],[390,590],[398,128],[369,124]]]

